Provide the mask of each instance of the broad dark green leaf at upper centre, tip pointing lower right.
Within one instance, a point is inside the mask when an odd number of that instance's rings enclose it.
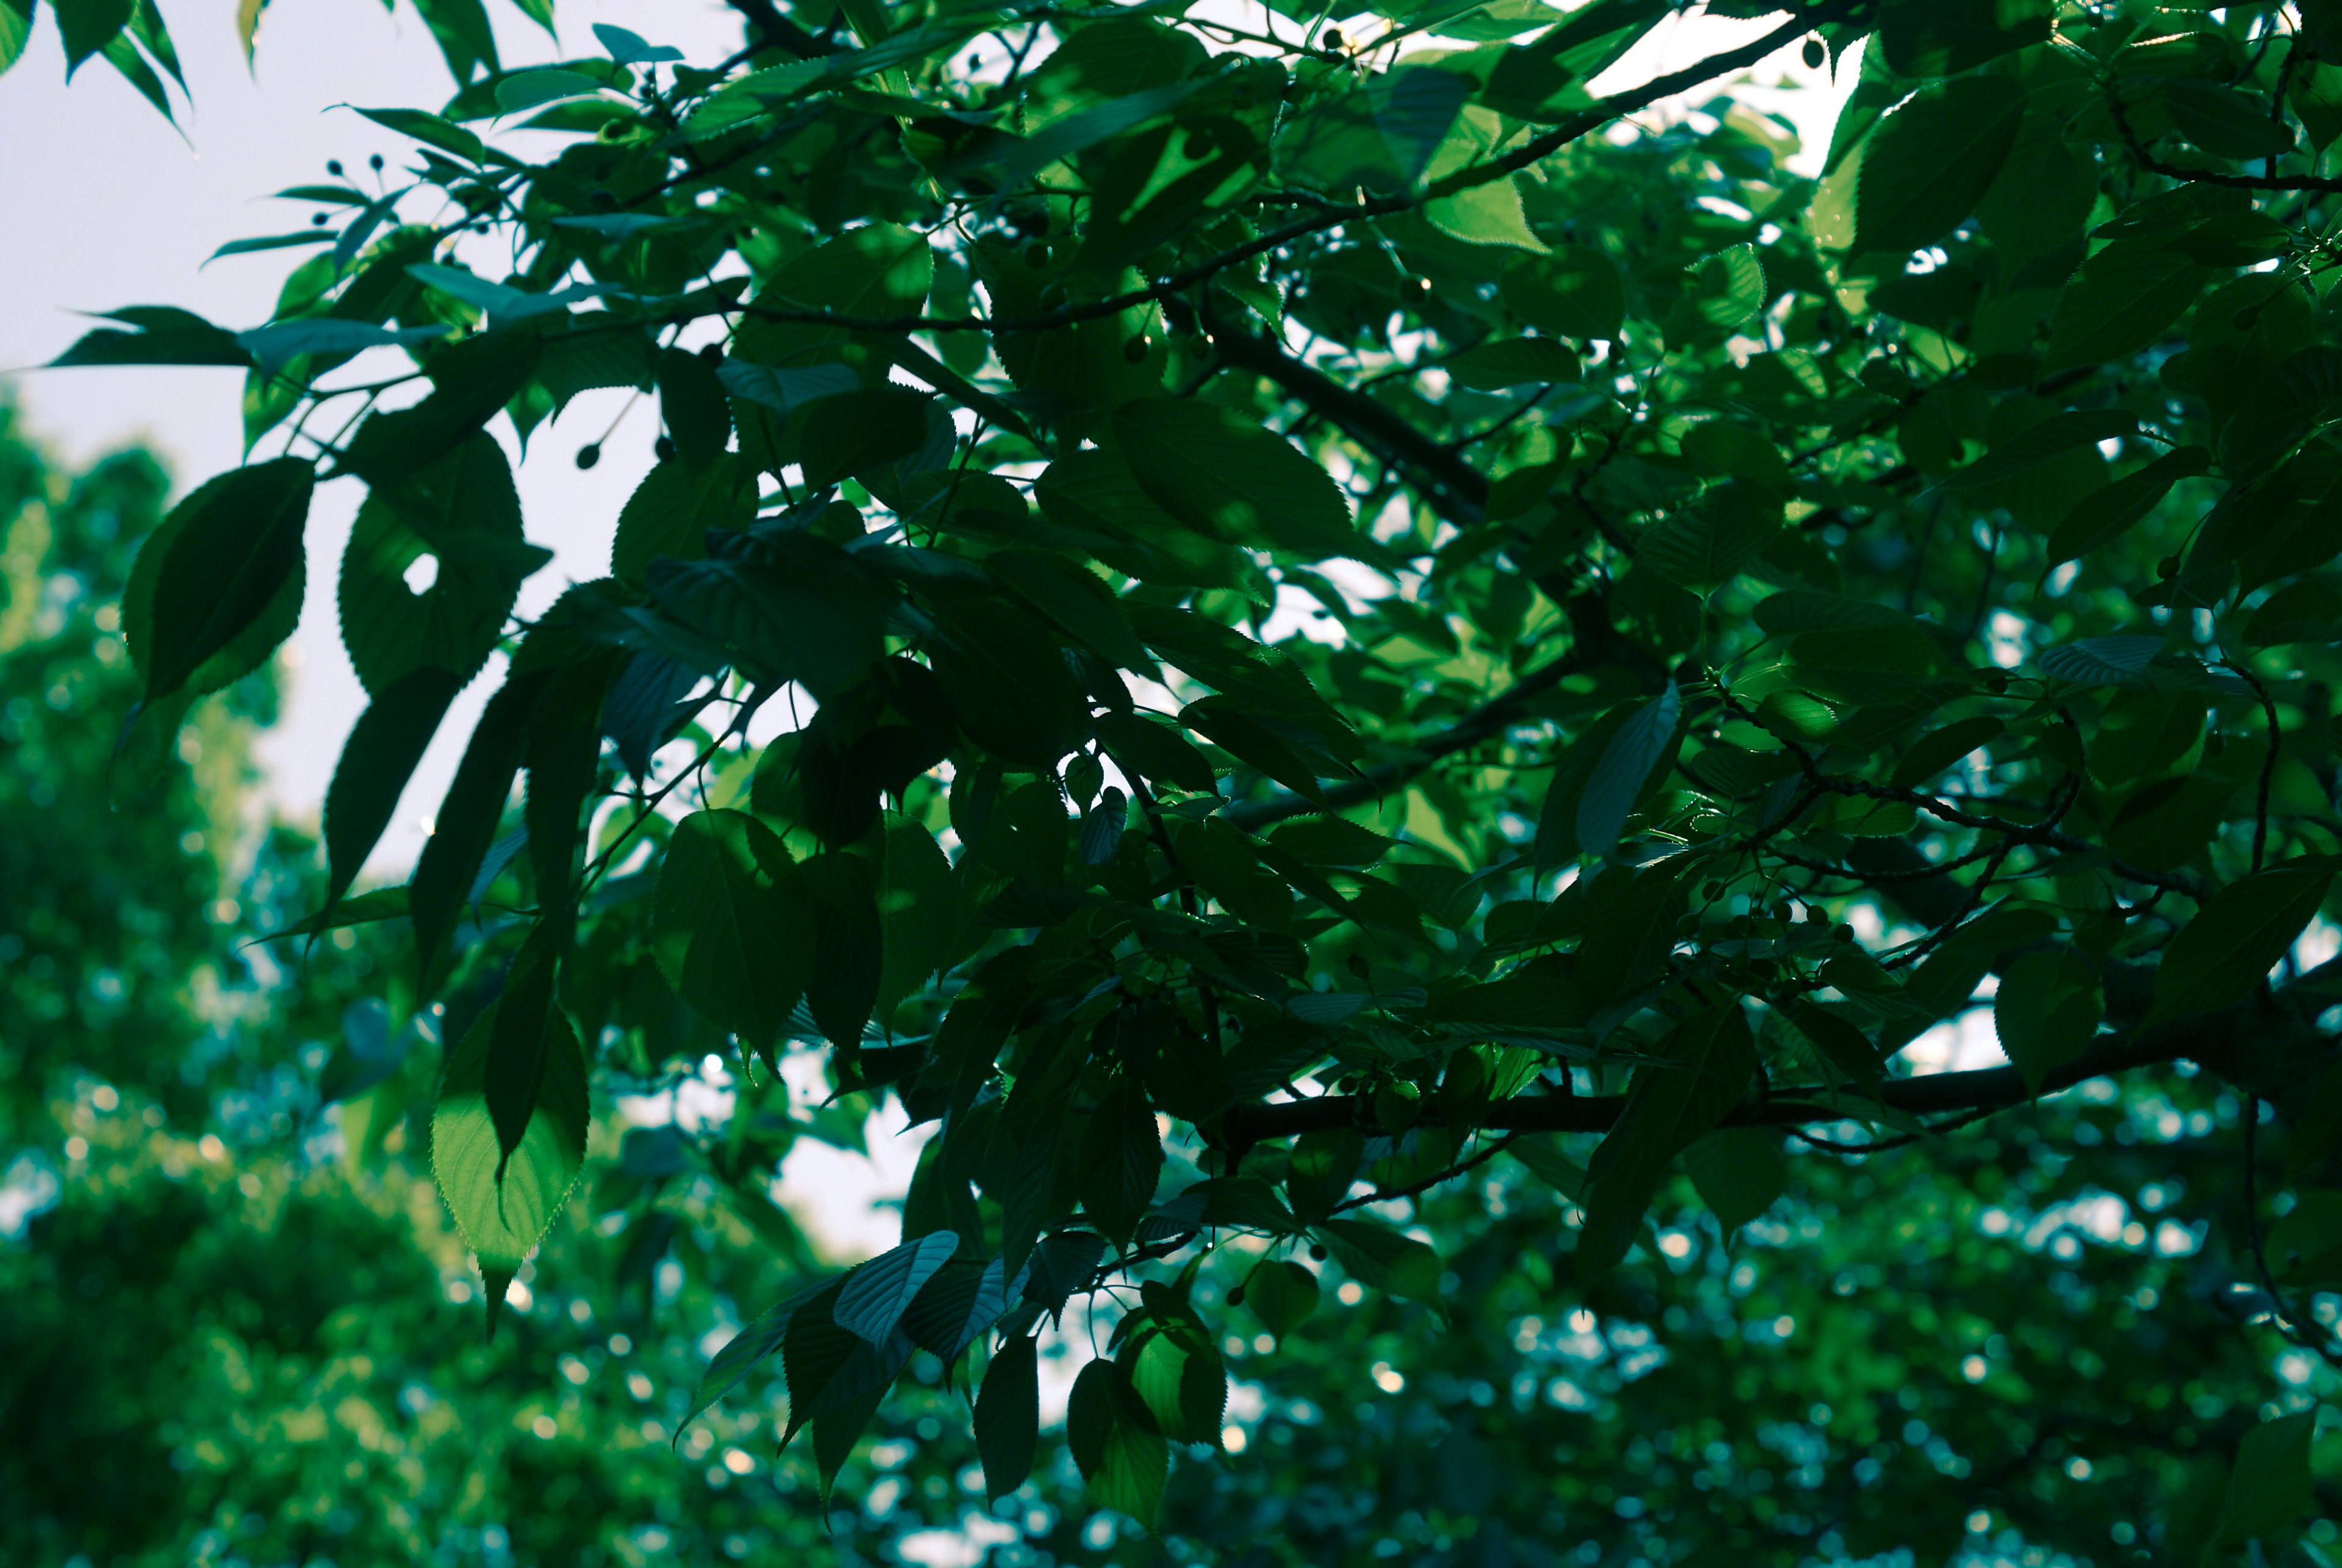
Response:
[[[1129,403],[1115,445],[1157,506],[1213,538],[1309,559],[1372,552],[1326,470],[1232,407]]]

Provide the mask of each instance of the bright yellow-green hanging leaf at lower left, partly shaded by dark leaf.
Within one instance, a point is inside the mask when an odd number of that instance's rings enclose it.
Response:
[[[489,1325],[504,1301],[501,1280],[511,1278],[553,1229],[586,1170],[588,1119],[586,1053],[569,1020],[555,1009],[536,1109],[511,1158],[499,1151],[485,1086],[497,1006],[492,1002],[480,1013],[447,1058],[447,1077],[431,1112],[431,1175],[464,1243],[480,1257],[480,1273],[492,1282]]]

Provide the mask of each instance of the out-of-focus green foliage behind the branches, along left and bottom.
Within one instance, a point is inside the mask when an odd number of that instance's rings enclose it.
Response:
[[[482,1343],[405,1158],[438,1051],[379,1037],[384,927],[237,945],[321,875],[255,791],[272,676],[131,754],[108,807],[117,597],[166,489],[141,452],[63,475],[0,414],[0,1561],[2183,1561],[2237,1439],[2333,1383],[2253,1327],[2201,1219],[2241,1208],[2237,1100],[2166,1077],[1801,1158],[1731,1245],[1670,1189],[1658,1257],[1590,1292],[1567,1201],[1511,1161],[1419,1201],[1459,1238],[1443,1308],[1330,1297],[1276,1348],[1220,1306],[1248,1261],[1223,1252],[1199,1299],[1232,1325],[1237,1453],[1176,1460],[1159,1538],[1082,1507],[1059,1435],[984,1507],[951,1388],[890,1402],[827,1505],[803,1444],[775,1463],[778,1357],[674,1444],[810,1243],[682,1177],[672,1135],[609,1135],[576,1210],[653,1224],[555,1226],[534,1275],[562,1294]],[[773,1091],[735,1121],[852,1142],[857,1109]]]

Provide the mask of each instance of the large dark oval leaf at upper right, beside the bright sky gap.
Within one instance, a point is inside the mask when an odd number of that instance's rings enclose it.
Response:
[[[1855,255],[1909,255],[1977,211],[2016,145],[2026,89],[2014,77],[1958,77],[1885,117],[1862,154]]]

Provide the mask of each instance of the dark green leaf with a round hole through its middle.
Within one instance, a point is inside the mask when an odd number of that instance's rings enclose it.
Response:
[[[415,592],[429,559],[431,583]],[[368,693],[412,669],[471,679],[504,639],[520,583],[553,559],[520,534],[513,470],[471,435],[396,489],[375,491],[342,550],[342,646]]]

